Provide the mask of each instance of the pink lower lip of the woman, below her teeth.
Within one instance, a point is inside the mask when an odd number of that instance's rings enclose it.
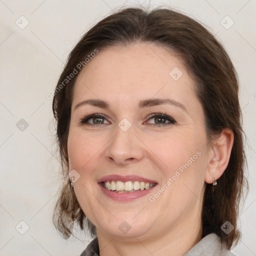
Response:
[[[131,201],[134,199],[137,199],[143,195],[148,194],[150,191],[152,191],[152,189],[154,189],[156,185],[148,188],[148,189],[143,189],[143,190],[136,190],[134,192],[123,192],[123,193],[118,193],[118,192],[114,192],[112,190],[108,190],[106,188],[104,188],[102,186],[102,183],[98,183],[101,191],[108,197],[110,197],[111,199],[115,200],[115,201]]]

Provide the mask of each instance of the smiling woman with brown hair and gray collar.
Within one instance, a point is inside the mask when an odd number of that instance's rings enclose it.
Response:
[[[221,44],[168,8],[125,8],[69,54],[53,98],[65,177],[54,224],[84,255],[232,255],[243,151]]]

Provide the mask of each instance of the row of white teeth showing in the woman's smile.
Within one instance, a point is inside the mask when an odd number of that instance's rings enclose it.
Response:
[[[103,182],[103,187],[108,189],[108,190],[116,190],[116,191],[134,191],[134,190],[144,190],[144,189],[148,189],[150,187],[152,187],[153,185],[155,185],[155,183],[148,183],[148,182],[139,182],[139,181],[134,181],[132,183],[132,181],[126,181],[126,182],[122,182],[122,181],[105,181]]]

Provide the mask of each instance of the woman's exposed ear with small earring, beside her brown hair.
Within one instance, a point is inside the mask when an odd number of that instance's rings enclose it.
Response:
[[[213,178],[218,179],[227,167],[234,135],[229,128],[224,128],[221,133],[211,141],[208,152],[208,164],[205,172],[205,182],[212,183]]]

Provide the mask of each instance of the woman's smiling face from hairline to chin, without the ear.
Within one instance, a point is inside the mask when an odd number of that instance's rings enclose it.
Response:
[[[99,51],[79,73],[69,171],[98,235],[143,239],[200,226],[208,148],[194,87],[182,61],[153,43]]]

